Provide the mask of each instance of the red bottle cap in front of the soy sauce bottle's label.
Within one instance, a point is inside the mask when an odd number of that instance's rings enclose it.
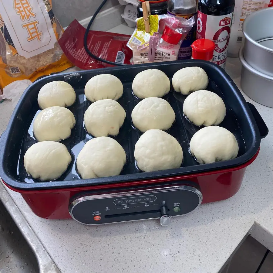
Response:
[[[197,39],[191,44],[192,58],[197,60],[211,60],[215,43],[209,39]]]

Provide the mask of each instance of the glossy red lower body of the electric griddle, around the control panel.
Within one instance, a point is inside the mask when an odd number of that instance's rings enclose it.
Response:
[[[3,182],[9,189],[21,193],[37,216],[46,219],[71,218],[68,211],[71,198],[77,194],[83,194],[86,191],[101,190],[102,193],[105,193],[106,190],[110,189],[116,189],[118,191],[121,187],[128,187],[128,190],[130,190],[130,187],[132,186],[152,185],[166,182],[171,184],[178,180],[181,183],[185,182],[185,185],[188,181],[197,183],[203,194],[202,203],[204,204],[225,200],[237,193],[241,187],[247,166],[255,160],[258,156],[258,152],[248,162],[235,168],[153,180],[46,190],[18,190],[5,184],[5,181]]]

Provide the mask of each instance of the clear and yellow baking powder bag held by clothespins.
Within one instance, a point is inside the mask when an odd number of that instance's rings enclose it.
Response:
[[[187,20],[173,15],[150,15],[149,20],[150,33],[145,32],[144,20],[141,17],[137,19],[136,29],[127,43],[133,50],[133,63],[177,60],[181,43],[194,26],[194,17]],[[156,33],[159,39],[157,44],[154,44],[154,39],[151,38]]]

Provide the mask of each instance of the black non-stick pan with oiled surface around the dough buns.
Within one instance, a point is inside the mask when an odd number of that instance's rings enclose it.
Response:
[[[220,126],[231,131],[239,144],[239,153],[236,159],[200,165],[189,152],[189,142],[196,131],[202,127],[191,124],[183,115],[183,102],[186,96],[171,91],[164,96],[173,107],[176,120],[174,125],[167,131],[173,135],[183,148],[184,160],[178,169],[141,172],[136,168],[134,159],[134,146],[141,135],[141,132],[133,128],[131,123],[131,112],[133,107],[140,101],[132,94],[132,81],[137,73],[146,69],[160,69],[167,76],[172,78],[174,73],[189,66],[202,67],[209,77],[207,90],[218,94],[226,105],[227,115]],[[98,74],[113,74],[118,77],[124,87],[123,96],[118,100],[126,111],[126,119],[119,135],[114,137],[124,148],[127,161],[120,176],[103,177],[96,179],[80,179],[75,169],[77,154],[84,143],[92,138],[83,127],[83,115],[89,107],[90,102],[85,99],[84,86],[93,76]],[[35,114],[40,111],[37,103],[37,96],[40,88],[54,80],[65,80],[75,89],[77,94],[76,103],[69,107],[75,115],[76,125],[72,129],[72,135],[62,141],[72,155],[72,162],[67,171],[57,181],[39,182],[27,176],[23,165],[23,158],[26,150],[33,145],[36,140],[33,137],[32,122]],[[225,169],[239,166],[247,162],[258,151],[260,145],[260,135],[256,122],[244,100],[240,91],[231,78],[221,68],[216,65],[197,60],[176,61],[170,63],[154,63],[145,65],[135,65],[128,67],[115,67],[108,69],[97,69],[80,71],[77,73],[61,73],[42,78],[32,84],[22,95],[3,139],[1,150],[1,177],[10,186],[17,189],[48,189],[71,186],[84,186],[93,184],[115,183],[119,181],[135,181],[142,179],[153,179],[166,176],[183,175],[189,173],[200,173],[209,170]],[[35,183],[33,183],[35,182]]]

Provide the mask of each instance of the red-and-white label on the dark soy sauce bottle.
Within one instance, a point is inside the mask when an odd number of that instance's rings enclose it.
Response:
[[[232,13],[221,16],[197,14],[197,39],[210,39],[215,43],[213,63],[222,68],[226,66],[227,46],[230,38]]]

